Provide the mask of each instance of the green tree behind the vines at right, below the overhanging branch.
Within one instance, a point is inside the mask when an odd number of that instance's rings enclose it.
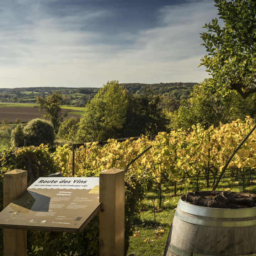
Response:
[[[244,119],[248,113],[254,117],[255,96],[251,95],[245,100],[234,91],[223,96],[221,92],[213,93],[209,88],[209,80],[204,80],[193,88],[190,98],[181,101],[181,106],[176,113],[177,127],[185,129],[192,125],[201,125],[208,128],[209,125],[218,127],[219,123],[229,123],[236,119]]]

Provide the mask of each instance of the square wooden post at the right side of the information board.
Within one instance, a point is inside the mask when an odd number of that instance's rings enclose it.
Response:
[[[124,170],[100,173],[100,256],[124,256]]]

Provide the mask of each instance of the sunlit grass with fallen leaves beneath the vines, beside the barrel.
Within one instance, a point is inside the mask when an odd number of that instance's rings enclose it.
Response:
[[[243,178],[241,174],[236,177],[227,171],[218,186],[217,190],[256,193],[256,172],[252,171],[250,186],[248,184],[249,175]],[[212,185],[212,184],[211,184]],[[133,235],[130,236],[128,254],[135,256],[160,256],[164,255],[164,249],[169,234],[170,225],[175,214],[180,196],[188,191],[196,191],[196,180],[193,179],[190,185],[177,186],[177,196],[174,197],[173,187],[164,188],[162,191],[162,206],[157,208],[158,199],[155,200],[155,209],[159,212],[155,213],[152,198],[156,198],[156,192],[150,192],[144,199],[144,206],[140,209],[140,213],[133,219]],[[198,191],[212,190],[207,188],[204,176],[201,175]]]

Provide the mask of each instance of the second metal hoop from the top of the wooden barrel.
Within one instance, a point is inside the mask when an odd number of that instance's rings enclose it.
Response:
[[[212,226],[212,227],[222,227],[222,228],[240,228],[246,226],[254,226],[256,225],[256,219],[253,220],[244,220],[244,221],[218,221],[218,220],[204,220],[193,218],[187,215],[183,215],[182,213],[175,211],[175,216],[183,220],[184,222],[201,225],[201,226]]]

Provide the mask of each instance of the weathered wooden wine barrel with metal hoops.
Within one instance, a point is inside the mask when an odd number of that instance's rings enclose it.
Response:
[[[199,193],[207,196],[210,192]],[[176,255],[256,256],[256,207],[194,206],[185,201],[185,195],[181,196],[164,252],[164,256]]]

